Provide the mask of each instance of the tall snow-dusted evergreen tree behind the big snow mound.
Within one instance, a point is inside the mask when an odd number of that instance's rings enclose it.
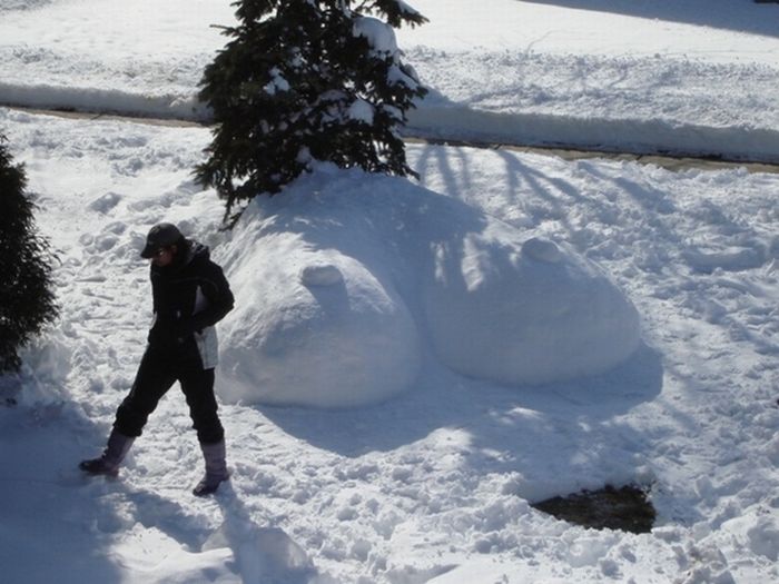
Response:
[[[206,68],[200,99],[217,127],[197,180],[231,227],[313,160],[415,175],[398,129],[425,95],[392,27],[426,19],[402,0],[239,0],[238,26]],[[381,19],[379,19],[381,17]],[[237,210],[236,210],[237,209]]]

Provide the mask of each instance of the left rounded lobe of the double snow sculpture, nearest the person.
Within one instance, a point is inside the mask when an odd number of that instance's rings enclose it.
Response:
[[[352,407],[393,397],[416,378],[414,320],[357,260],[280,232],[253,244],[231,273],[223,399]]]

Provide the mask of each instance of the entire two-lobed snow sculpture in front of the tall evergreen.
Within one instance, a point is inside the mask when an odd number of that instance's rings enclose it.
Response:
[[[256,199],[226,247],[227,402],[378,403],[413,387],[425,340],[514,385],[599,374],[639,345],[638,313],[592,263],[405,179],[322,166]]]

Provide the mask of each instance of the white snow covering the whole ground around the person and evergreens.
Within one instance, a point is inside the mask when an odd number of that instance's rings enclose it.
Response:
[[[638,119],[662,148],[776,157],[779,6],[678,4],[418,0],[432,22],[401,44],[458,113],[416,122],[632,147]],[[230,18],[205,0],[0,0],[0,99],[184,115],[221,43],[206,24]],[[323,166],[227,234],[191,180],[204,128],[0,108],[0,131],[62,305],[1,379],[21,385],[0,407],[3,581],[779,578],[779,175],[412,145],[418,184]],[[234,477],[206,501],[176,389],[118,481],[75,469],[144,349],[138,249],[162,219],[211,247],[238,298],[219,325]],[[605,483],[650,489],[652,533],[530,506]]]

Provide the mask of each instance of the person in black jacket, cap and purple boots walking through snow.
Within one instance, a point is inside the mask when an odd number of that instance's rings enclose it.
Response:
[[[102,455],[82,461],[79,468],[90,475],[116,475],[149,414],[178,380],[206,461],[206,475],[193,493],[209,495],[228,478],[225,432],[214,395],[214,325],[233,309],[233,293],[208,248],[186,239],[172,224],[154,226],[140,255],[151,260],[155,318],[148,345]]]

